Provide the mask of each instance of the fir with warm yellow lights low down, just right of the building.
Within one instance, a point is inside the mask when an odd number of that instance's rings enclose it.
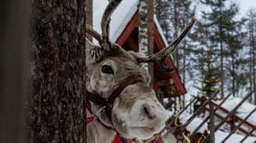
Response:
[[[193,51],[192,61],[194,61],[194,80],[197,81],[196,88],[201,95],[210,95],[219,88],[218,68],[215,63],[218,56],[217,51],[212,46],[210,31],[205,29],[206,23],[198,21],[195,31],[192,33],[197,45],[191,49]]]

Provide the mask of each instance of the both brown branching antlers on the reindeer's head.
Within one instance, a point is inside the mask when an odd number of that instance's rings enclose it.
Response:
[[[112,15],[113,11],[121,3],[121,1],[122,0],[110,0],[110,2],[108,3],[108,5],[105,9],[105,12],[103,14],[102,22],[101,22],[102,35],[99,32],[94,31],[91,27],[86,25],[86,32],[88,32],[91,36],[96,38],[100,42],[102,49],[104,49],[105,51],[110,51],[111,49],[117,50],[117,46],[115,46],[115,44],[112,44],[109,40],[109,23],[110,23],[110,17]],[[168,72],[173,71],[172,69],[169,69],[169,68],[163,66],[161,63],[163,63],[163,60],[165,59],[165,57],[167,57],[168,55],[170,55],[172,52],[174,52],[176,50],[177,45],[185,37],[187,32],[191,30],[191,28],[193,27],[195,22],[196,22],[196,19],[193,18],[191,20],[191,22],[181,32],[181,34],[179,34],[179,36],[171,44],[171,46],[169,46],[168,48],[165,48],[161,51],[158,51],[157,53],[154,53],[150,56],[139,57],[139,58],[137,58],[137,61],[140,63],[142,63],[142,62],[149,62],[149,63],[150,62],[152,62],[152,63],[158,62],[158,64],[160,63],[159,65],[162,67],[162,69],[164,69],[164,71],[168,71]],[[118,49],[119,48],[120,47],[118,47]]]

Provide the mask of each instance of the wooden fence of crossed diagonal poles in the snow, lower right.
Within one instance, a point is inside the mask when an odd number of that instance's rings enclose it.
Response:
[[[192,114],[192,116],[184,123],[185,127],[188,126],[192,120],[194,118],[197,117],[198,114],[200,114],[201,112],[209,112],[208,115],[203,119],[203,121],[198,125],[198,127],[193,131],[193,133],[191,133],[191,135],[189,136],[190,138],[195,138],[195,136],[198,133],[198,130],[202,127],[202,125],[204,125],[206,122],[209,121],[210,117],[218,117],[221,119],[221,122],[217,125],[214,125],[214,127],[208,126],[207,131],[211,131],[210,128],[214,128],[214,132],[212,131],[212,133],[217,132],[218,130],[220,130],[220,128],[222,127],[223,124],[228,124],[230,126],[230,133],[228,133],[221,141],[221,143],[224,143],[228,138],[230,138],[230,136],[233,133],[236,133],[237,131],[240,131],[241,133],[244,133],[244,138],[241,140],[241,142],[244,142],[244,140],[248,137],[248,136],[254,136],[255,134],[253,134],[253,132],[256,130],[256,125],[250,123],[247,121],[247,118],[249,118],[252,113],[256,112],[256,108],[254,108],[251,112],[248,112],[248,114],[243,118],[241,116],[239,116],[238,114],[236,114],[235,112],[244,104],[245,100],[248,99],[248,97],[251,96],[252,92],[247,93],[244,98],[241,100],[240,103],[238,103],[238,105],[233,108],[231,111],[226,110],[225,108],[222,107],[222,105],[226,102],[226,100],[231,96],[231,94],[227,95],[220,104],[217,104],[213,101],[211,101],[211,97],[214,97],[218,92],[213,93],[206,101],[204,101],[200,107],[198,108],[198,110],[196,110],[194,112],[194,114]],[[181,113],[185,112],[189,107],[191,107],[193,104],[195,104],[196,102],[198,102],[198,99],[196,99],[196,97],[180,112],[178,113],[178,115],[180,115]],[[213,112],[210,112],[209,107],[213,106]],[[222,113],[219,113],[222,112]],[[237,125],[237,124],[238,125]],[[244,129],[243,126],[249,128],[249,129]],[[249,131],[248,131],[249,130]],[[214,142],[213,137],[211,137],[211,133],[206,134],[203,139],[200,138],[200,141],[198,142]],[[211,141],[212,140],[212,141]],[[193,143],[193,142],[192,142]]]

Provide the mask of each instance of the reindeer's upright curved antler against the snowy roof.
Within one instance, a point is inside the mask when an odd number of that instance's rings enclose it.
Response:
[[[113,11],[121,3],[121,1],[122,0],[110,0],[103,15],[103,19],[101,22],[103,33],[102,33],[102,41],[100,43],[101,43],[101,46],[104,47],[106,51],[110,51],[111,49],[111,42],[109,40],[109,23],[111,19],[110,17]]]

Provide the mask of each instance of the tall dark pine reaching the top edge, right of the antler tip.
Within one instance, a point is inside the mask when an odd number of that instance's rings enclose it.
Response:
[[[226,77],[229,72],[234,72],[235,70],[235,61],[234,58],[238,51],[242,49],[241,45],[234,45],[234,43],[239,44],[241,41],[241,34],[239,30],[241,29],[239,26],[244,22],[243,20],[237,21],[235,20],[235,16],[238,14],[238,9],[236,4],[231,4],[230,7],[225,7],[226,0],[201,0],[200,1],[205,7],[209,8],[209,10],[202,11],[201,20],[205,21],[204,29],[207,31],[211,31],[209,34],[209,40],[211,41],[211,46],[219,51],[220,59],[216,61],[216,63],[220,62],[220,77],[221,77],[221,98],[224,95],[224,88],[229,88],[226,84],[224,86],[224,77]],[[231,63],[233,62],[233,69],[231,71],[227,71],[226,67],[228,65],[227,62],[224,62],[228,59],[231,59]],[[236,57],[237,58],[237,57]],[[233,59],[233,61],[232,61]],[[239,62],[236,62],[239,63]],[[231,74],[234,75],[234,74]],[[235,75],[234,75],[235,76]],[[233,77],[234,79],[235,77]],[[227,80],[225,81],[227,82]]]

